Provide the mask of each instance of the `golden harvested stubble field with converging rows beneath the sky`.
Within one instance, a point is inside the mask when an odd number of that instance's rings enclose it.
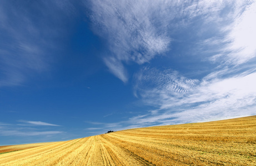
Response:
[[[256,165],[256,116],[37,145],[1,153],[0,165]]]

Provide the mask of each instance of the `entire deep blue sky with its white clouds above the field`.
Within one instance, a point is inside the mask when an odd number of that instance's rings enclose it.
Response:
[[[255,1],[1,1],[0,146],[256,115]]]

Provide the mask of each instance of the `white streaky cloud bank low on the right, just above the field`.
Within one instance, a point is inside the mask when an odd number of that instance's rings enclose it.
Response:
[[[144,116],[130,118],[130,123],[166,125],[167,123],[202,122],[250,116],[256,113],[255,70],[225,78],[216,75],[218,77],[215,79],[202,79],[200,82],[186,78],[180,79],[177,74],[169,72],[170,75],[175,76],[173,81],[169,79],[166,70],[162,73],[159,70],[152,71],[155,74],[150,74],[148,79],[145,79],[148,76],[147,72],[144,73],[143,79],[139,80],[142,82],[138,82],[139,85],[136,88],[138,93],[143,94],[140,95],[143,102],[157,107],[158,110],[149,111]],[[159,78],[155,79],[154,75]],[[155,80],[157,84],[154,83]],[[154,86],[144,84],[151,81]],[[189,83],[186,85],[184,82]],[[188,91],[177,91],[175,87],[177,89],[188,87]]]

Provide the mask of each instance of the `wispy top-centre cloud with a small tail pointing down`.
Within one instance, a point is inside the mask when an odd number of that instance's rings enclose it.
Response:
[[[144,1],[91,1],[93,30],[107,39],[110,55],[104,57],[109,70],[127,82],[123,63],[149,62],[168,50],[168,23],[158,22],[159,5]]]

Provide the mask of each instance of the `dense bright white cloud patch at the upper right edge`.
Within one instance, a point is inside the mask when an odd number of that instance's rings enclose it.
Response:
[[[237,9],[238,7],[241,9]],[[203,42],[203,45],[214,46],[212,51],[219,51],[210,57],[215,63],[222,61],[225,65],[239,65],[256,56],[256,23],[252,21],[256,17],[256,2],[240,4],[234,8],[237,12],[230,16],[231,23],[219,27],[224,32],[223,37],[212,37]]]

